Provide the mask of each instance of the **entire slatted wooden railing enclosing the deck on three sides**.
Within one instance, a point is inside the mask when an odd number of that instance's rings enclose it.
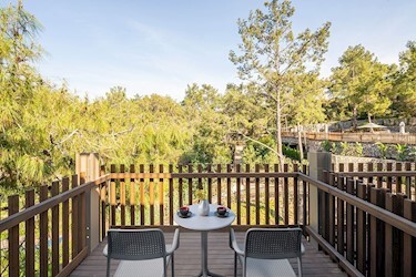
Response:
[[[386,173],[372,174],[376,181]],[[416,176],[415,171],[388,174]],[[415,202],[376,187],[369,175],[366,183],[362,176],[325,176],[317,181],[305,167],[288,165],[285,172],[267,165],[112,165],[93,182],[64,178],[50,189],[42,186],[38,204],[28,191],[22,211],[17,196],[9,198],[10,216],[0,222],[2,275],[67,276],[88,255],[91,233],[104,238],[109,227],[170,228],[174,213],[195,203],[201,186],[211,203],[235,211],[236,228],[300,225],[352,276],[415,275]],[[318,202],[308,199],[312,187],[318,188]],[[89,197],[97,188],[100,227],[91,229]],[[313,203],[318,203],[317,230],[308,226]]]

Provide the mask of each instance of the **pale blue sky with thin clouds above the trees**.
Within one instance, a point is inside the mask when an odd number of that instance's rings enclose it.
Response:
[[[27,0],[43,24],[47,54],[40,72],[78,95],[105,95],[120,85],[128,95],[158,93],[182,100],[186,85],[209,83],[223,92],[239,83],[230,50],[240,43],[236,21],[261,8],[254,0]],[[328,75],[348,45],[363,44],[382,62],[397,62],[416,40],[415,0],[294,0],[295,31],[331,21]]]

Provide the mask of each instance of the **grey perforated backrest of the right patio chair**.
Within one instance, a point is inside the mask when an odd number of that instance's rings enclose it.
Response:
[[[301,257],[301,228],[251,228],[245,235],[245,257],[282,259]]]

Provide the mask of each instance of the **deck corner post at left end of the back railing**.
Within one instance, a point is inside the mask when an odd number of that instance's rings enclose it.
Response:
[[[100,177],[100,160],[97,153],[79,153],[75,158],[77,174],[84,173],[85,182]],[[100,189],[92,187],[85,195],[85,239],[89,252],[100,243]]]

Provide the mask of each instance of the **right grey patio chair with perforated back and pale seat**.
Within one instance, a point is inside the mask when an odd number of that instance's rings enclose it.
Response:
[[[305,248],[301,228],[251,228],[245,234],[244,244],[237,244],[231,228],[230,246],[234,249],[234,276],[237,258],[244,277],[296,276],[287,258],[297,258],[297,271],[302,276]]]

